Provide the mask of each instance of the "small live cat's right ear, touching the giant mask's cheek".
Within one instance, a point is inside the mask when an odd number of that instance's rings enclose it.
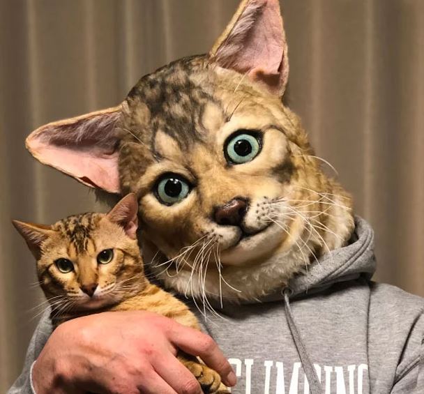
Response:
[[[130,193],[121,199],[112,210],[107,213],[107,218],[117,225],[123,227],[126,234],[132,238],[137,238],[138,228],[138,202],[134,193]]]

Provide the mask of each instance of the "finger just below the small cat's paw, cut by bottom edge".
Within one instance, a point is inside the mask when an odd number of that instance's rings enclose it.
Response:
[[[175,356],[160,357],[153,367],[177,393],[203,393],[194,375]]]

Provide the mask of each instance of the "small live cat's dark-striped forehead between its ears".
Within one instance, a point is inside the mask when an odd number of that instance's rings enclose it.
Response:
[[[70,215],[53,225],[53,229],[73,244],[77,253],[83,253],[92,241],[93,231],[98,228],[101,217],[100,213]]]

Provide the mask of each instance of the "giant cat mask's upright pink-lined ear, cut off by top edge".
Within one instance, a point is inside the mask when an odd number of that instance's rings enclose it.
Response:
[[[289,58],[280,2],[243,0],[209,54],[219,66],[247,74],[282,96]]]

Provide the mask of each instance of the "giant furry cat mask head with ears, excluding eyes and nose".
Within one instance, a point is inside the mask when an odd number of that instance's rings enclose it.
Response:
[[[351,198],[282,103],[288,71],[278,0],[243,0],[209,54],[142,77],[117,107],[38,128],[27,146],[87,185],[137,194],[146,261],[167,287],[255,299],[354,229]],[[232,165],[225,143],[238,130],[260,135],[262,151]],[[172,206],[156,195],[169,172],[192,188]],[[245,205],[242,222],[217,222],[232,204]]]

